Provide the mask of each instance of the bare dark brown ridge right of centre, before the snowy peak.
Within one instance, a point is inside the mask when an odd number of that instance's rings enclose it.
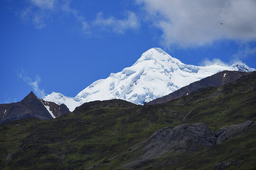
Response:
[[[150,101],[148,103],[144,103],[144,104],[147,105],[147,104],[168,102],[168,101],[171,101],[172,99],[178,99],[180,97],[188,95],[191,92],[198,90],[199,88],[209,87],[209,86],[219,87],[222,85],[226,85],[230,82],[237,80],[241,76],[246,76],[248,74],[251,74],[251,72],[228,71],[228,70],[221,71],[212,76],[208,76],[199,81],[191,83],[190,85],[186,85],[186,86],[180,88],[179,90],[172,92],[166,96],[157,98],[155,100],[152,100],[152,101]]]

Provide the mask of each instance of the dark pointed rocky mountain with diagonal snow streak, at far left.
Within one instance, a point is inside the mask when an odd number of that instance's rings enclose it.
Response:
[[[65,104],[58,105],[46,102],[30,92],[22,101],[9,104],[0,104],[0,124],[25,119],[53,119],[69,113]]]

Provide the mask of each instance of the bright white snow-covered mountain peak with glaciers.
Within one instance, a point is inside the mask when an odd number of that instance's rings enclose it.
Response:
[[[123,99],[143,104],[223,70],[255,71],[243,63],[231,66],[214,64],[205,67],[187,65],[160,48],[152,48],[144,52],[133,66],[118,73],[111,73],[106,79],[95,81],[76,97],[53,92],[45,96],[44,100],[57,104],[64,103],[70,111],[85,102],[95,100]]]

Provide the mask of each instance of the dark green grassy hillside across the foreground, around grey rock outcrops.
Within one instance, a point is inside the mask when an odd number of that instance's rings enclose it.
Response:
[[[220,127],[256,120],[256,72],[221,87],[146,106],[122,100],[85,103],[52,120],[23,119],[0,126],[0,169],[114,170],[133,161],[162,127],[203,122]],[[170,153],[133,169],[256,167],[256,132],[247,130],[207,152]],[[227,167],[225,162],[230,162]]]

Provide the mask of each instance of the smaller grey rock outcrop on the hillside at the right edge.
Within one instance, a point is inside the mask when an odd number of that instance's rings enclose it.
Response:
[[[227,140],[230,136],[239,134],[244,130],[246,130],[247,128],[255,127],[255,125],[256,125],[255,121],[248,120],[245,123],[222,127],[216,133],[216,137],[217,137],[216,144],[221,144],[222,142]]]

